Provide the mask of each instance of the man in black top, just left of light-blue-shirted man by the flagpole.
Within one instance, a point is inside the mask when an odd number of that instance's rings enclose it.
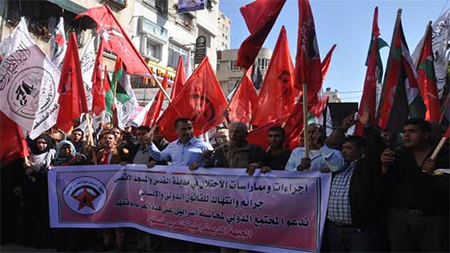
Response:
[[[281,126],[273,126],[268,131],[269,150],[264,155],[262,172],[284,170],[291,151],[284,147],[285,131]]]

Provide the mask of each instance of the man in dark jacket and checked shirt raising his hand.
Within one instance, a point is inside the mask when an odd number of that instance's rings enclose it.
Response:
[[[359,120],[367,139],[346,137],[342,145],[346,167],[333,173],[323,242],[330,252],[386,250],[382,230],[385,209],[379,184],[383,142],[369,126],[368,108]]]

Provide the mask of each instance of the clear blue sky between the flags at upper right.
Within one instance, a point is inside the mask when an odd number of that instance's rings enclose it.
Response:
[[[220,0],[219,9],[231,19],[231,48],[237,49],[249,32],[239,11],[252,0]],[[378,6],[380,37],[391,44],[397,10],[402,9],[402,24],[409,51],[425,33],[428,21],[435,21],[450,7],[449,0],[310,0],[316,24],[320,56],[323,59],[333,44],[331,66],[323,88],[341,93],[344,102],[359,102],[366,73],[365,60],[372,31],[373,12]],[[298,30],[298,1],[287,0],[263,47],[274,49],[281,26],[285,26],[295,64]],[[389,48],[381,55],[386,67]]]

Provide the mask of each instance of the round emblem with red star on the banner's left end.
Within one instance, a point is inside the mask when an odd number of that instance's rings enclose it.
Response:
[[[93,214],[105,205],[107,191],[105,185],[93,177],[78,177],[70,181],[63,191],[66,205],[79,214]]]

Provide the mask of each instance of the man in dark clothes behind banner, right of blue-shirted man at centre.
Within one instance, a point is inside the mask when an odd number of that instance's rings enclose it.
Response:
[[[246,168],[252,175],[257,167],[263,164],[264,150],[247,142],[247,125],[233,122],[229,125],[230,141],[214,152],[205,152],[208,167]]]

